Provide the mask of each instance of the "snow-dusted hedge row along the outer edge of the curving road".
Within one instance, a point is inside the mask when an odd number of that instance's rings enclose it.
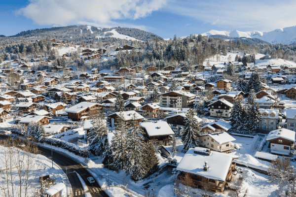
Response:
[[[60,139],[43,138],[42,142],[44,142],[46,144],[52,144],[53,146],[66,149],[66,150],[68,150],[68,151],[70,151],[70,152],[72,152],[75,155],[78,155],[80,157],[88,157],[89,156],[88,150],[80,150],[79,148],[77,149],[74,144],[66,142],[66,141],[62,141]]]

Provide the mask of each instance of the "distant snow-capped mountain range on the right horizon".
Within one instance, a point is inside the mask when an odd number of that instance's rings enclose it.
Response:
[[[201,35],[205,35],[205,36],[226,35],[230,37],[259,38],[261,40],[264,40],[272,44],[276,44],[276,43],[292,44],[296,42],[296,26],[283,28],[283,29],[276,29],[271,32],[259,32],[259,31],[240,32],[237,30],[234,30],[234,31],[211,30],[206,33],[201,33]]]

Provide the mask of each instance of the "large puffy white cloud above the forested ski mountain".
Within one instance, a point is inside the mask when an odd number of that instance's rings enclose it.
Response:
[[[18,14],[38,25],[112,24],[139,19],[159,10],[167,0],[30,0]]]

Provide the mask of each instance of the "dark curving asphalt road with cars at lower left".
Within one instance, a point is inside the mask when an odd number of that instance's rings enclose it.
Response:
[[[0,134],[0,139],[5,139],[6,136]],[[47,157],[48,159],[51,159],[51,150],[38,147],[39,154]],[[104,190],[101,189],[99,184],[95,182],[93,185],[90,185],[90,183],[87,181],[87,177],[90,177],[91,174],[83,168],[80,164],[78,164],[76,161],[61,155],[53,150],[53,161],[58,164],[66,173],[66,167],[67,167],[67,176],[69,178],[70,184],[72,186],[73,191],[73,197],[84,197],[84,193],[90,193],[92,197],[109,197]],[[84,192],[81,186],[81,183],[79,181],[79,178],[77,174],[74,172],[74,170],[82,177],[84,182],[86,183],[88,187],[88,191]],[[70,196],[70,194],[68,194]]]

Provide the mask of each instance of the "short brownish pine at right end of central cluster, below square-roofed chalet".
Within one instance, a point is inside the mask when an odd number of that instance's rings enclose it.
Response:
[[[156,150],[151,141],[144,146],[145,164],[148,169],[148,175],[154,173],[158,169],[158,159],[155,154]]]

